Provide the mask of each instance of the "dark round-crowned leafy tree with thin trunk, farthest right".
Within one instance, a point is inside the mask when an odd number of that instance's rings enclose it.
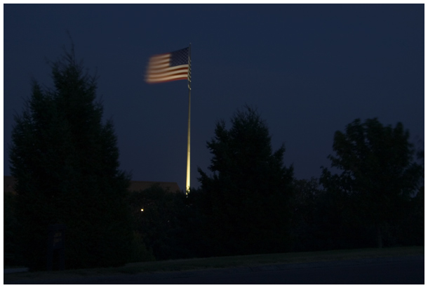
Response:
[[[348,124],[345,133],[336,131],[335,156],[331,166],[342,171],[333,175],[323,168],[321,183],[330,191],[340,190],[352,199],[361,225],[373,223],[377,247],[387,226],[406,216],[406,203],[417,188],[423,169],[414,162],[415,150],[408,142],[403,124],[383,126],[377,119]],[[394,225],[394,224],[393,224]]]

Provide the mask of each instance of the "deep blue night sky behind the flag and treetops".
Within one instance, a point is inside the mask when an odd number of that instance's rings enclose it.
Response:
[[[208,171],[215,122],[257,107],[296,178],[330,166],[333,134],[356,118],[402,122],[424,139],[423,4],[5,4],[4,175],[14,112],[31,79],[51,86],[69,47],[97,71],[121,169],[185,188],[187,81],[146,84],[149,57],[192,43],[191,185]],[[418,144],[418,145],[423,145]]]

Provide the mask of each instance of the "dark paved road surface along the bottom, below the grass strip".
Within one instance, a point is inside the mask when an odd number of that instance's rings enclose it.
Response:
[[[15,280],[4,281],[4,284],[424,284],[424,256],[73,279]]]

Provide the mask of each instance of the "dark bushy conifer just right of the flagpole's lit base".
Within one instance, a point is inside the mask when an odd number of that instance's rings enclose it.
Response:
[[[238,110],[227,129],[221,120],[207,143],[213,154],[201,189],[208,197],[207,218],[217,254],[250,254],[288,249],[293,167],[283,165],[284,145],[273,151],[260,114]]]

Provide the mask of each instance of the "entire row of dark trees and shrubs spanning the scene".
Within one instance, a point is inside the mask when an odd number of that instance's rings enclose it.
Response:
[[[46,269],[48,227],[58,223],[67,227],[66,268],[424,244],[424,155],[401,123],[356,119],[335,132],[331,169],[296,179],[283,164],[285,146],[272,148],[267,123],[246,106],[229,129],[215,124],[198,189],[128,192],[96,77],[73,48],[51,67],[53,88],[34,81],[15,117],[5,265]]]

